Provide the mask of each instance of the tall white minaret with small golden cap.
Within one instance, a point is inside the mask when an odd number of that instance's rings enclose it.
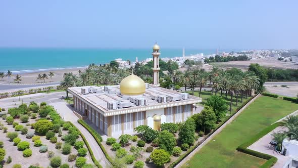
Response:
[[[155,45],[153,46],[153,52],[152,52],[152,56],[153,56],[153,85],[154,86],[159,86],[159,70],[161,69],[159,67],[159,55],[161,55],[161,53],[159,52],[160,47],[157,45],[157,43],[155,43]]]

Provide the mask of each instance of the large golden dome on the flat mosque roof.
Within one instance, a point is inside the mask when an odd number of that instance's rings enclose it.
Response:
[[[120,82],[122,95],[141,95],[145,93],[145,82],[138,76],[131,74]]]

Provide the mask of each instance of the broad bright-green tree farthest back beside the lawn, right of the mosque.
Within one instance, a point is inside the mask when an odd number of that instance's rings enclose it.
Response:
[[[213,109],[217,120],[225,117],[227,105],[222,97],[216,95],[211,96],[207,99],[206,106],[210,106]]]

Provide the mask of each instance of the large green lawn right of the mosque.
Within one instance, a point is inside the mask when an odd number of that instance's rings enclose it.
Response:
[[[290,101],[258,98],[183,167],[259,167],[266,160],[237,152],[236,148],[297,109],[298,104]]]

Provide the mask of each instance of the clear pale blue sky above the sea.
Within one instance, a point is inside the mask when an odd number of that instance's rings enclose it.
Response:
[[[0,47],[298,48],[298,1],[0,2]]]

